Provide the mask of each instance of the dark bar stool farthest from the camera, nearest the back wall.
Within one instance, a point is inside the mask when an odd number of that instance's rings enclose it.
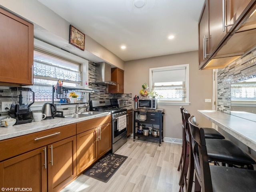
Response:
[[[185,111],[185,113],[184,113]],[[188,173],[188,167],[190,166],[190,154],[189,154],[189,148],[190,148],[190,143],[189,143],[189,133],[188,133],[188,118],[190,117],[190,114],[188,115],[187,109],[184,109],[183,106],[180,106],[180,112],[182,116],[182,154],[180,157],[180,163],[178,166],[178,171],[180,171],[180,180],[179,180],[179,185],[180,186],[187,186],[187,181],[186,176]],[[186,118],[185,118],[186,116]],[[205,136],[207,138],[214,138],[214,139],[224,139],[224,136],[220,134],[217,130],[213,128],[205,128]],[[190,176],[189,176],[190,177]],[[188,186],[188,190],[192,186]],[[191,190],[191,189],[190,189]]]

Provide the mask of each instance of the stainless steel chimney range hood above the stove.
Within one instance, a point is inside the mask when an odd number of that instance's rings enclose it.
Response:
[[[111,81],[111,65],[106,62],[96,63],[96,82],[94,84],[109,84],[116,85],[116,82]]]

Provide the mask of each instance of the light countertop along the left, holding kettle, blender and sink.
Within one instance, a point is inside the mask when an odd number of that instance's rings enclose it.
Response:
[[[10,127],[0,127],[0,140],[13,138],[17,136],[22,136],[30,133],[35,133],[43,130],[48,130],[72,123],[77,123],[85,120],[89,120],[92,118],[98,118],[103,117],[106,115],[109,115],[109,112],[104,112],[101,114],[86,116],[86,117],[80,117],[80,118],[59,118],[55,117],[54,119],[49,120],[42,120],[40,122],[34,122],[34,120],[31,123],[26,124],[20,124],[20,125],[14,125]]]

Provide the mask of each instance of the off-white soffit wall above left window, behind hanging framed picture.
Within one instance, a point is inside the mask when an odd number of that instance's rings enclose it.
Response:
[[[34,36],[60,48],[68,44],[70,23],[37,0],[0,0],[0,6],[34,23]],[[75,26],[79,28],[79,26]],[[86,34],[86,31],[82,31]],[[64,48],[65,49],[65,48]],[[108,62],[124,70],[124,62],[115,54],[86,35],[85,50],[69,50],[93,62]]]

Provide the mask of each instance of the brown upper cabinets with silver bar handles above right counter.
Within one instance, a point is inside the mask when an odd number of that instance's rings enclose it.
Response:
[[[198,23],[199,69],[223,68],[256,46],[255,8],[256,0],[205,1]]]

